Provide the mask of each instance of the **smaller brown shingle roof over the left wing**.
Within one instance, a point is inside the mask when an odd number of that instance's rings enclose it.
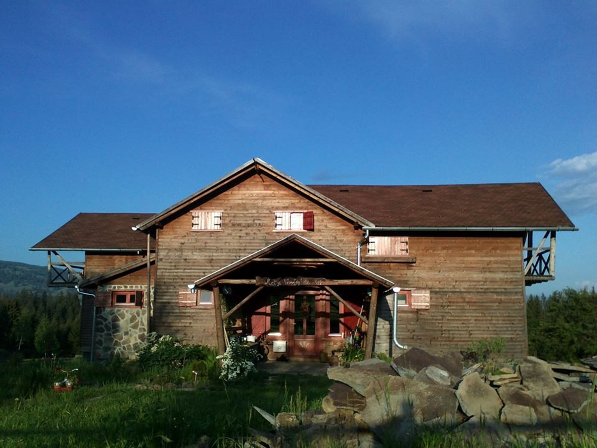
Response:
[[[79,213],[32,249],[146,249],[147,235],[134,232],[131,227],[151,216],[152,213]]]

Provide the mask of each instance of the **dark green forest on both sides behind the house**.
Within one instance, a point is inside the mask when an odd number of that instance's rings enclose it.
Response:
[[[544,360],[576,361],[597,355],[595,288],[564,289],[527,298],[528,352]],[[0,293],[0,349],[24,357],[79,351],[76,293],[22,290]]]

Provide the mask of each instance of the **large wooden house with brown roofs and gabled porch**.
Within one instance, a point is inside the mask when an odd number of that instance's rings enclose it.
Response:
[[[304,360],[358,330],[367,356],[501,337],[518,357],[525,285],[555,277],[556,232],[573,230],[539,183],[307,186],[256,158],[161,213],[78,214],[32,250],[82,294],[94,358],[152,331]]]

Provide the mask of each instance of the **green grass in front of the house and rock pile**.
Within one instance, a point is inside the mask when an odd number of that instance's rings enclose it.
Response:
[[[224,384],[216,378],[186,391],[159,385],[181,383],[188,369],[144,372],[134,363],[62,362],[78,368],[81,387],[72,392],[50,390],[60,379],[54,366],[40,362],[0,364],[0,447],[183,447],[206,434],[214,447],[241,448],[247,428],[268,431],[256,412],[321,409],[330,381],[317,376],[267,376],[256,373]],[[148,388],[139,389],[137,385]],[[155,388],[155,389],[154,389]],[[330,441],[322,448],[341,447]],[[461,448],[488,446],[481,437],[463,432],[420,428],[408,443],[392,437],[384,448]],[[508,448],[594,448],[595,432],[570,430],[549,441],[514,440]],[[301,444],[300,448],[309,448]]]

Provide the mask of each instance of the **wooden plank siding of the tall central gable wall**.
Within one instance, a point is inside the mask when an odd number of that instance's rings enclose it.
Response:
[[[192,210],[221,210],[220,231],[191,231]],[[276,180],[254,174],[204,203],[191,204],[159,231],[155,312],[152,330],[196,343],[216,345],[214,310],[179,308],[181,287],[293,232],[274,231],[275,212],[313,211],[313,231],[299,232],[314,243],[356,260],[362,232]]]

